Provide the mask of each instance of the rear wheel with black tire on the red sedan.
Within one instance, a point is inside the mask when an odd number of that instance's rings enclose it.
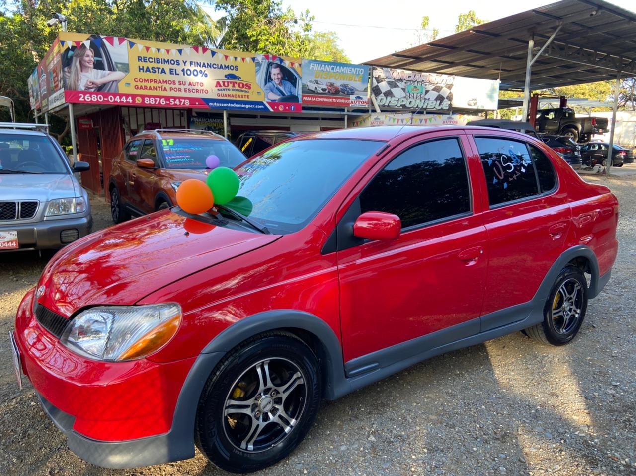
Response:
[[[585,275],[576,266],[567,266],[552,286],[543,310],[543,322],[527,328],[524,333],[543,344],[563,346],[579,332],[587,308],[588,285]]]

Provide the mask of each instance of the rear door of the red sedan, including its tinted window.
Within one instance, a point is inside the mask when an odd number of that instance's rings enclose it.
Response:
[[[520,321],[571,226],[565,184],[543,148],[495,134],[475,135],[487,194],[488,278],[481,332]],[[513,307],[515,306],[515,307]]]

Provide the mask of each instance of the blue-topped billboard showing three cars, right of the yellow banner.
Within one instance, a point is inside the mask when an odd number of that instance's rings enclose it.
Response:
[[[369,67],[303,59],[303,104],[368,107]]]

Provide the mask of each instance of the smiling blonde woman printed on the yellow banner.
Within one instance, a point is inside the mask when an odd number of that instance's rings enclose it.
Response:
[[[71,66],[64,68],[64,84],[67,90],[71,91],[95,91],[106,83],[114,83],[114,90],[109,88],[109,92],[116,92],[116,85],[126,76],[121,71],[105,71],[95,69],[95,52],[86,45],[76,48],[73,53]]]

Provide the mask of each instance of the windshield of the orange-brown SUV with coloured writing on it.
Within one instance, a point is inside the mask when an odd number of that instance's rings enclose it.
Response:
[[[240,150],[228,141],[219,139],[162,139],[160,141],[168,169],[205,169],[205,160],[216,155],[221,167],[233,169],[245,160]]]

